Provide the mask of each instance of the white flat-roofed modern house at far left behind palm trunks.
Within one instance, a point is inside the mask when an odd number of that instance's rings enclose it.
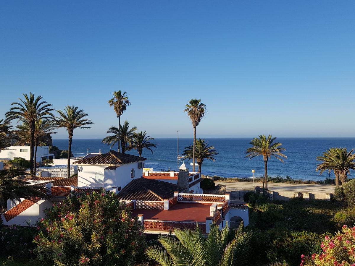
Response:
[[[27,152],[20,151],[23,149],[27,149]],[[37,146],[37,156],[36,161],[42,162],[42,157],[53,156],[53,154],[48,154],[48,146]],[[30,160],[30,146],[10,146],[7,150],[0,151],[0,157],[3,159],[12,160],[15,157],[21,157],[25,160]]]

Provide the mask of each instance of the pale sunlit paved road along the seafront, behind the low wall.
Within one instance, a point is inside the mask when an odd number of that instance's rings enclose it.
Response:
[[[252,189],[253,182],[218,182],[215,184],[226,185],[226,188],[245,188]],[[263,183],[255,182],[255,186],[263,187]],[[295,192],[324,192],[333,193],[335,185],[321,184],[283,184],[283,183],[268,183],[268,189],[272,191],[295,191]]]

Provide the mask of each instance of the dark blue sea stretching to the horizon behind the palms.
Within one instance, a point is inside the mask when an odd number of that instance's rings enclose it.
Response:
[[[261,156],[253,159],[245,159],[245,150],[251,145],[251,138],[209,138],[206,139],[209,145],[215,147],[219,154],[215,157],[216,162],[205,160],[202,164],[202,173],[205,175],[218,175],[223,177],[251,177],[251,170],[255,170],[255,175],[263,175],[264,162]],[[355,148],[355,138],[277,138],[276,141],[281,142],[286,149],[285,163],[280,162],[276,158],[268,161],[268,174],[275,176],[289,175],[292,178],[304,180],[322,180],[328,176],[323,173],[322,176],[315,171],[318,161],[317,156],[321,156],[323,151],[332,147],[342,147],[352,149]],[[177,169],[178,145],[177,139],[160,138],[152,141],[159,144],[157,148],[152,148],[152,154],[148,150],[143,150],[143,157],[148,158],[145,163],[146,167],[154,168],[154,171]],[[179,139],[179,154],[182,154],[184,148],[192,144],[192,139]],[[53,139],[53,145],[59,149],[68,149],[67,139]],[[101,139],[73,139],[72,152],[74,156],[83,156],[87,149],[89,152],[98,153],[101,149],[102,153],[108,152],[110,149],[106,144],[101,143]],[[113,149],[117,150],[115,146]],[[133,150],[130,154],[137,155],[137,151]],[[190,163],[190,162],[189,162]],[[192,165],[190,165],[192,171]],[[197,166],[196,166],[197,171]],[[351,176],[355,176],[352,171]],[[331,176],[333,178],[333,176]]]

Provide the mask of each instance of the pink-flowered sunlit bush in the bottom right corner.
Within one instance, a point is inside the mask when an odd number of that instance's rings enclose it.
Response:
[[[355,266],[355,226],[342,228],[334,237],[325,237],[321,254],[301,256],[300,266]]]

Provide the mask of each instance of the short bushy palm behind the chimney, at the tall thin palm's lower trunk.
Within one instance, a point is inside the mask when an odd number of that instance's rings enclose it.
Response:
[[[195,148],[195,157],[198,164],[198,172],[201,173],[201,165],[203,163],[203,159],[208,159],[210,161],[216,161],[214,159],[214,155],[217,155],[217,151],[214,149],[214,146],[207,146],[208,142],[204,142],[204,139],[196,139],[196,148]],[[184,153],[185,159],[191,160],[193,153],[193,145],[186,147]]]

